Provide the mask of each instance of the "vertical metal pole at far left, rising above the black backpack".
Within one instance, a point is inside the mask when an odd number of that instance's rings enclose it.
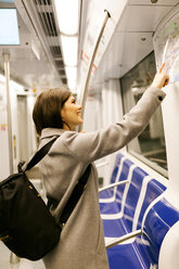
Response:
[[[7,106],[8,106],[8,138],[9,138],[9,159],[10,174],[13,174],[13,145],[12,145],[12,120],[11,120],[11,98],[10,98],[10,54],[3,53],[4,75],[7,84]]]

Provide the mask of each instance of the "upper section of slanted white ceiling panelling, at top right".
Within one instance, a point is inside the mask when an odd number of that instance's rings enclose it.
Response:
[[[117,31],[154,31],[161,20],[174,7],[128,5]]]

